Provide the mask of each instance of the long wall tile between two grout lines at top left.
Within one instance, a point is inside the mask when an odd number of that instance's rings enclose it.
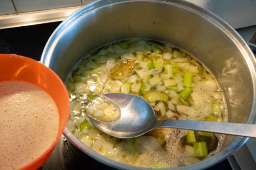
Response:
[[[81,5],[81,0],[13,0],[18,13]]]

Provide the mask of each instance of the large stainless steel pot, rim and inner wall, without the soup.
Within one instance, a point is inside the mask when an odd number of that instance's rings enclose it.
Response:
[[[96,47],[114,40],[149,38],[170,42],[202,61],[223,87],[229,122],[256,122],[256,60],[246,43],[211,12],[184,1],[102,0],[64,20],[48,40],[41,62],[64,81],[72,67]],[[66,128],[64,135],[92,158],[114,168],[142,170],[88,148]],[[225,159],[248,138],[227,136],[221,151],[179,169],[204,169]]]

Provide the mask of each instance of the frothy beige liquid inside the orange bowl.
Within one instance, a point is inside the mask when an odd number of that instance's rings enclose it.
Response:
[[[0,82],[0,170],[19,169],[56,139],[58,108],[51,96],[25,81]]]

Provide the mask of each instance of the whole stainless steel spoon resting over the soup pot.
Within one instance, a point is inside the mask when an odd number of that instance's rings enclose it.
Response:
[[[148,101],[125,93],[104,94],[120,108],[120,118],[114,122],[90,121],[103,132],[117,138],[134,138],[155,128],[177,128],[256,138],[256,125],[244,123],[206,122],[194,120],[157,120]]]

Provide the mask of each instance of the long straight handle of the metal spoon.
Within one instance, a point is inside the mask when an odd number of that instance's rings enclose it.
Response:
[[[195,120],[157,120],[155,128],[198,130],[256,138],[256,125],[245,123],[206,122]]]

